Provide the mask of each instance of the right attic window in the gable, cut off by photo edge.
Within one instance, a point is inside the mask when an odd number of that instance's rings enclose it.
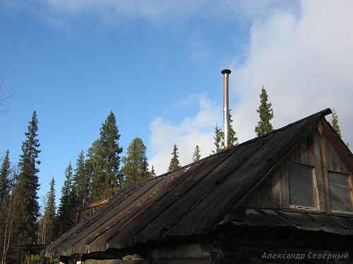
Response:
[[[328,172],[331,208],[333,212],[352,212],[352,185],[349,175],[339,172]]]

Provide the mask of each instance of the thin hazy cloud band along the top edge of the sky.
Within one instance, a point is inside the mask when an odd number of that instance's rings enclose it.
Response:
[[[0,0],[1,1],[1,0]],[[8,2],[8,3],[7,3]],[[29,0],[5,1],[6,6],[35,12],[47,23],[67,29],[70,19],[99,18],[106,23],[126,24],[129,20],[144,20],[153,25],[183,24],[189,18],[221,18],[248,23],[263,18],[273,8],[295,8],[297,1],[187,1],[187,0]],[[203,46],[203,44],[201,44]],[[194,54],[196,58],[205,54]]]

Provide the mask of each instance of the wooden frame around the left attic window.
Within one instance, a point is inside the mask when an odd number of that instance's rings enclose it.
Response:
[[[311,176],[313,179],[313,201],[315,203],[314,207],[311,206],[299,206],[299,205],[294,205],[291,204],[291,199],[290,199],[290,180],[289,180],[289,171],[288,171],[288,164],[290,165],[297,165],[302,168],[308,168],[311,170]],[[287,176],[287,190],[288,190],[288,206],[290,209],[297,209],[297,210],[310,210],[310,211],[315,211],[318,212],[320,210],[319,208],[319,201],[318,201],[318,184],[316,182],[316,170],[315,167],[312,165],[306,165],[303,163],[296,163],[293,161],[287,161],[286,163],[286,176]]]

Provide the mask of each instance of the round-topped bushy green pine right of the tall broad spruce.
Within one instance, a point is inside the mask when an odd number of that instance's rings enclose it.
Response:
[[[129,144],[126,156],[121,159],[124,163],[121,173],[124,175],[124,185],[129,186],[150,179],[146,157],[146,146],[142,139],[136,137]]]

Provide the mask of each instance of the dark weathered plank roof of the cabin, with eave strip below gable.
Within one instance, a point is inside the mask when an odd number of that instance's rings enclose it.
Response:
[[[54,241],[45,254],[71,256],[111,248],[124,249],[174,237],[207,237],[227,221],[240,225],[229,216],[232,211],[316,129],[319,120],[324,120],[324,116],[330,113],[330,109],[325,109],[177,171],[127,187]],[[248,215],[263,215],[265,212],[280,219],[278,225],[295,225],[295,221],[300,222],[301,219],[310,223],[305,215],[274,215],[273,210],[259,212],[248,211]],[[327,221],[345,223],[345,227],[337,227],[337,234],[352,234],[352,219],[333,220],[327,217]],[[311,222],[310,228],[323,229],[312,219]],[[256,225],[256,220],[242,222],[241,225],[252,224]],[[306,228],[300,223],[299,226]]]

